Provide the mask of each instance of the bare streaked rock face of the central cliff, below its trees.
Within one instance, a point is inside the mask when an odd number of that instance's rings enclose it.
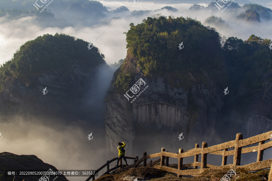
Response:
[[[182,132],[187,141],[209,141],[215,129],[215,116],[224,103],[222,87],[209,79],[211,88],[207,88],[190,72],[193,86],[189,90],[172,87],[164,77],[145,78],[131,49],[128,49],[124,65],[125,72],[135,74],[130,85],[140,78],[145,84],[140,86],[138,94],[129,91],[130,97],[134,97],[128,101],[124,96],[126,92],[115,90],[114,75],[109,90],[112,94],[105,103],[106,138],[111,151],[116,152],[118,142],[124,141],[128,143],[128,153],[133,154],[132,150],[148,143],[150,137],[174,142]]]

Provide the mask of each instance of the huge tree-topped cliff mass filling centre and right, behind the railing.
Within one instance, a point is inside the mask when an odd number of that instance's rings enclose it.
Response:
[[[215,29],[183,17],[148,17],[130,26],[127,57],[106,96],[112,152],[119,141],[134,155],[272,129],[271,40],[223,41]]]

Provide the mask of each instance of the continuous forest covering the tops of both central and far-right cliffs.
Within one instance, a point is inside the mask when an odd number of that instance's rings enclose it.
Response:
[[[144,75],[165,76],[175,87],[190,87],[188,72],[201,83],[215,78],[220,84],[226,83],[230,70],[233,78],[251,71],[250,66],[260,67],[254,68],[256,74],[271,72],[272,52],[268,48],[271,40],[268,39],[252,35],[246,41],[234,37],[223,40],[214,28],[183,17],[148,17],[143,23],[130,26],[126,33],[127,48],[132,48],[133,55],[139,59],[138,66]],[[178,48],[181,42],[182,50]],[[116,72],[115,86],[121,88],[120,91],[130,87],[127,80],[133,77],[131,72],[122,71],[124,67]],[[209,78],[203,76],[205,74]],[[254,74],[246,74],[244,78],[247,82],[253,78],[248,86],[256,88],[261,84],[260,75],[256,78]]]

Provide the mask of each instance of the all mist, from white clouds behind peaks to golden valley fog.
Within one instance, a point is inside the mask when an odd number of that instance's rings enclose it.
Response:
[[[76,19],[73,19],[73,14],[66,13],[60,15],[58,9],[55,10],[54,8],[48,7],[48,10],[55,15],[63,27],[48,27],[46,21],[44,23],[37,23],[38,20],[35,16],[26,16],[14,20],[9,19],[9,14],[0,17],[0,42],[2,42],[3,46],[2,49],[0,49],[0,64],[10,60],[20,46],[27,41],[34,40],[36,37],[47,33],[53,35],[55,33],[64,33],[83,39],[89,43],[92,42],[93,45],[98,47],[100,52],[105,55],[105,61],[108,64],[99,67],[96,75],[86,81],[85,89],[88,91],[85,92],[81,99],[81,110],[82,114],[87,115],[88,119],[82,117],[82,119],[74,120],[73,122],[66,122],[66,120],[56,119],[54,116],[25,116],[28,110],[22,115],[13,115],[8,117],[8,119],[1,117],[0,132],[2,132],[3,139],[0,141],[0,152],[10,152],[20,155],[33,154],[45,163],[55,166],[58,170],[96,170],[105,164],[107,160],[117,157],[117,149],[116,154],[113,155],[105,144],[105,95],[112,81],[113,74],[117,69],[110,64],[126,57],[126,35],[124,32],[129,30],[131,23],[134,23],[134,25],[139,24],[144,18],[151,17],[155,14],[161,14],[166,17],[183,16],[193,19],[196,18],[196,20],[200,21],[204,26],[215,27],[222,37],[238,37],[239,39],[247,40],[251,34],[255,34],[263,39],[271,39],[271,20],[268,21],[261,18],[261,23],[238,20],[237,16],[244,12],[236,11],[235,13],[228,13],[225,11],[221,13],[217,11],[216,7],[214,7],[215,11],[210,9],[202,9],[199,11],[189,10],[193,4],[198,3],[194,1],[192,1],[192,3],[176,4],[151,1],[141,2],[140,0],[137,4],[133,4],[132,1],[99,2],[101,2],[108,11],[115,10],[120,6],[127,7],[129,11],[105,13],[105,18],[100,18],[99,20],[91,20],[91,18],[95,17],[93,17],[92,14],[92,17],[88,17],[89,14],[86,14],[86,19],[90,18],[86,23],[86,21],[78,22]],[[239,0],[235,2],[239,3]],[[54,3],[55,1],[53,1],[51,5],[54,6]],[[208,6],[207,3],[198,4],[204,7]],[[263,2],[263,4],[260,3],[260,5],[272,8],[270,2]],[[161,8],[165,6],[174,7],[178,9],[178,11],[161,10]],[[31,8],[32,10],[34,9],[33,7]],[[5,9],[5,7],[0,7],[0,9]],[[131,12],[133,11],[139,11],[139,13],[132,14]],[[222,26],[222,24],[208,24],[206,19],[211,16],[221,17],[227,26]],[[85,20],[85,18],[83,18],[83,20]],[[73,25],[73,27],[70,25]],[[183,45],[186,46],[186,42],[184,42]],[[241,133],[243,133],[245,128],[241,128],[240,130]],[[138,143],[142,145],[141,147],[134,147],[133,155],[126,154],[126,156],[135,157],[138,155],[139,158],[141,158],[144,151],[146,151],[147,154],[153,154],[160,152],[161,148],[165,148],[166,151],[172,153],[177,153],[179,148],[183,148],[184,151],[195,148],[196,143],[198,143],[201,148],[202,142],[206,141],[202,135],[195,135],[195,138],[189,139],[185,134],[183,134],[183,140],[178,140],[177,137],[183,130],[174,131],[176,131],[176,138],[168,138],[167,132],[162,132],[162,134],[150,132],[146,135],[138,135],[140,140],[145,141]],[[88,140],[87,136],[91,132],[93,139]],[[217,132],[220,132],[220,130],[217,130]],[[235,135],[232,136],[234,137],[232,140],[234,140]],[[245,138],[244,135],[244,139]],[[212,142],[208,142],[208,146],[230,141],[217,134],[209,139],[212,139]],[[122,141],[123,140],[120,140],[120,142]],[[118,145],[116,145],[116,147],[117,146]],[[264,160],[270,159],[270,155],[270,150],[265,151]],[[241,165],[256,162],[256,157],[257,152],[242,154]],[[232,158],[233,156],[228,157],[227,164],[232,163]],[[201,156],[199,160],[201,160]],[[208,155],[207,160],[208,164],[221,165],[222,157],[217,155],[209,157]],[[147,160],[147,162],[149,162],[149,160]],[[183,160],[183,164],[192,162],[193,157]],[[132,164],[133,160],[128,160],[128,163]],[[114,167],[115,164],[116,163],[113,162],[111,167]],[[171,158],[170,164],[177,164],[177,159]],[[105,172],[105,169],[97,176]],[[67,179],[71,181],[86,180],[86,178],[87,177],[67,177]]]

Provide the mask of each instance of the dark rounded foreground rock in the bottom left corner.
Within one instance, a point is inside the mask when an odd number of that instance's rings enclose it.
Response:
[[[16,155],[8,152],[0,153],[0,173],[4,174],[4,170],[54,170],[56,167],[44,163],[35,155]],[[51,176],[52,177],[52,176]],[[50,178],[52,181],[56,176]],[[17,179],[16,179],[17,178]],[[15,180],[37,181],[40,176],[16,176]],[[13,177],[3,176],[1,180],[12,180]],[[64,176],[58,176],[57,180],[68,181]]]

